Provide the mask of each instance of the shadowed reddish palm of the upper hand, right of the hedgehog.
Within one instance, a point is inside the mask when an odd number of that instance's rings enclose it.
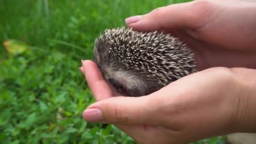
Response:
[[[200,70],[210,67],[256,68],[255,53],[245,51],[244,48],[241,48],[241,51],[234,48],[224,48],[203,40],[197,40],[184,32],[173,32],[173,35],[179,37],[195,52]]]

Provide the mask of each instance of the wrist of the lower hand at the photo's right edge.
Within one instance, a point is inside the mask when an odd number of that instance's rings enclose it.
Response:
[[[236,89],[231,96],[235,132],[256,132],[256,69],[232,68]]]

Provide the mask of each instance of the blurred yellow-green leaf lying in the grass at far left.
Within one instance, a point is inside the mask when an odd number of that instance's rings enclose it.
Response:
[[[19,40],[6,40],[3,45],[8,53],[18,55],[28,50],[26,43]]]

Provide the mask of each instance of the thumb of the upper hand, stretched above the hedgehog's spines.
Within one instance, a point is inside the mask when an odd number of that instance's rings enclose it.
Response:
[[[198,7],[196,2],[179,3],[156,8],[143,16],[132,16],[125,20],[128,27],[139,31],[179,29],[197,27]]]

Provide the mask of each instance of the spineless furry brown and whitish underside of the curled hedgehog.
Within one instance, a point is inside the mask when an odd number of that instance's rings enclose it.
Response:
[[[98,65],[102,75],[125,96],[145,95],[146,84],[140,80],[138,73],[128,70],[124,64],[118,62],[109,53],[107,41],[95,40],[94,62]]]

